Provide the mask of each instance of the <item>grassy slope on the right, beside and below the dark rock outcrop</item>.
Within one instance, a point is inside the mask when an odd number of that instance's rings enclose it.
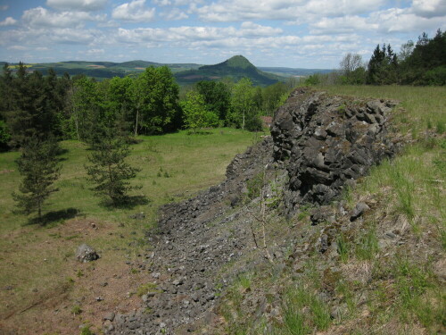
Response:
[[[244,276],[248,283],[236,281],[221,307],[227,320],[221,333],[444,333],[446,88],[321,89],[400,100],[403,109],[392,112],[392,126],[409,144],[345,194],[349,211],[359,201],[368,203],[372,211],[359,225],[340,222],[346,230],[336,240],[335,264],[330,257],[321,256],[318,242],[313,242],[310,248],[315,251],[308,261],[292,258],[290,268],[280,278],[271,274],[274,267],[261,273],[248,272]],[[308,209],[301,208],[290,223],[298,235],[311,234]],[[389,232],[394,232],[398,243],[388,238]],[[295,247],[299,250],[304,246]],[[252,293],[246,293],[247,286]],[[271,312],[259,319],[246,314],[246,302],[265,291],[273,292],[272,297],[266,297],[271,308],[276,306],[274,316]],[[330,312],[337,315],[335,319],[330,318]]]

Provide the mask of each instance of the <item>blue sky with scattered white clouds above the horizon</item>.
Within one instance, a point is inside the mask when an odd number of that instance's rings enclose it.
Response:
[[[338,67],[446,29],[446,0],[0,0],[0,61]]]

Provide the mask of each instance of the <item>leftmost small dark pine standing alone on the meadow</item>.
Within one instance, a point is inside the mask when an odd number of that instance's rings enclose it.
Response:
[[[53,186],[61,170],[56,158],[57,149],[54,140],[27,138],[21,146],[21,157],[16,161],[23,180],[19,187],[21,194],[14,192],[12,197],[22,213],[37,212],[38,222],[42,222],[45,199],[58,190]]]

